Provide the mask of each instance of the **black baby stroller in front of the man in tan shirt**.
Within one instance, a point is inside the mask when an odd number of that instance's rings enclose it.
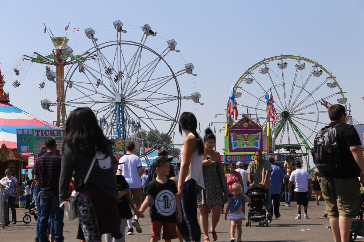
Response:
[[[246,227],[252,227],[253,223],[260,223],[261,225],[268,226],[266,210],[266,190],[264,186],[260,184],[253,184],[248,188],[248,220],[246,221]]]

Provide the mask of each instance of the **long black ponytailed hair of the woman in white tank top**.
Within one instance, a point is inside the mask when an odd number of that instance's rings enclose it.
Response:
[[[199,155],[205,153],[205,145],[201,137],[197,134],[197,119],[195,115],[191,112],[183,112],[179,117],[179,132],[182,134],[182,128],[184,130],[190,131],[197,139],[197,151]]]

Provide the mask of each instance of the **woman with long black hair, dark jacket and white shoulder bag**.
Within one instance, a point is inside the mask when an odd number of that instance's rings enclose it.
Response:
[[[104,136],[90,108],[77,108],[68,116],[62,153],[59,199],[62,203],[68,197],[73,175],[75,190],[79,192],[76,197],[80,223],[78,239],[101,242],[102,234],[106,233],[120,238],[116,207],[118,186],[112,165],[111,142]],[[84,183],[90,167],[90,175]]]

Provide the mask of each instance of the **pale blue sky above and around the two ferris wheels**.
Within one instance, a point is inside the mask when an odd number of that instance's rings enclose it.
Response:
[[[362,81],[363,1],[24,1],[15,7],[0,0],[0,61],[5,67],[34,51],[51,53],[52,44],[43,34],[43,22],[55,36],[64,35],[64,26],[80,27],[70,43],[84,39],[84,29],[111,25],[121,20],[125,25],[150,24],[166,39],[175,39],[177,49],[187,62],[194,64],[197,91],[202,95],[196,116],[201,129],[209,122],[224,122],[222,114],[229,98],[230,86],[254,63],[263,58],[290,54],[318,61],[337,77],[345,97],[351,103],[353,116],[364,121],[361,106],[364,96]],[[109,27],[112,28],[112,27]],[[104,28],[103,30],[108,29]],[[133,29],[127,29],[132,33]],[[111,32],[110,32],[111,31]],[[107,41],[112,30],[98,33]],[[82,37],[83,36],[83,37]],[[135,39],[136,41],[137,39]],[[160,42],[165,43],[161,38]],[[79,41],[75,42],[76,45]],[[157,42],[157,41],[155,41]],[[158,46],[158,44],[156,44]],[[82,52],[91,47],[89,40],[71,47]],[[179,55],[173,63],[183,65]],[[177,70],[177,67],[175,67]],[[19,88],[8,81],[5,90],[11,103],[48,122],[55,120],[40,107],[50,89],[39,91],[44,66],[34,64]],[[48,83],[46,83],[47,85]],[[179,80],[182,94],[194,92],[191,78]],[[55,91],[55,87],[52,87]],[[269,88],[269,87],[267,87]],[[258,93],[261,95],[261,93]],[[239,101],[242,103],[244,101]],[[194,111],[192,101],[182,103],[181,111]],[[174,107],[171,107],[174,108]],[[240,108],[244,113],[245,108]],[[217,123],[217,148],[222,152],[223,128]],[[177,130],[176,130],[177,131]],[[177,132],[176,132],[177,133]],[[175,142],[182,136],[176,135]]]

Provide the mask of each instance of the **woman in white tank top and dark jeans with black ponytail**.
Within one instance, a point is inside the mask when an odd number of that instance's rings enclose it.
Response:
[[[183,112],[179,118],[179,132],[185,133],[186,139],[181,150],[181,171],[178,181],[178,196],[191,240],[201,241],[201,228],[197,220],[197,194],[205,188],[202,175],[202,160],[205,153],[202,137],[197,133],[197,119],[191,112]]]

